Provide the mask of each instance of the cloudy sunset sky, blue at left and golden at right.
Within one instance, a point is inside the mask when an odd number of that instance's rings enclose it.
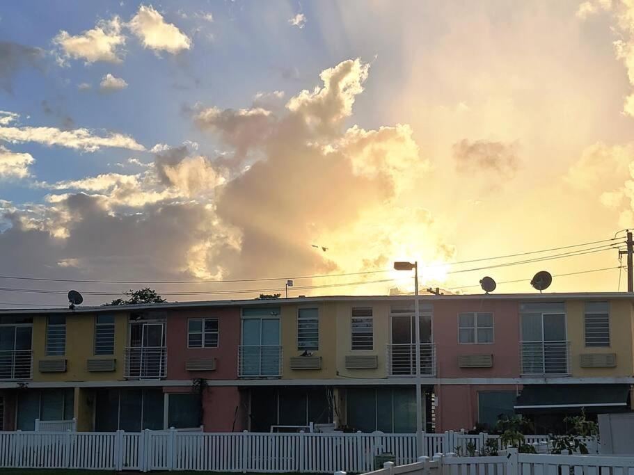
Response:
[[[632,0],[2,2],[0,307],[624,290],[633,131]]]

